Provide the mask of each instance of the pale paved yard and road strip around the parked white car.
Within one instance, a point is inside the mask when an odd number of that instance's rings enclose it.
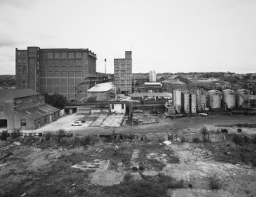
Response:
[[[96,117],[95,117],[96,116]],[[58,131],[64,129],[65,131],[71,131],[74,134],[112,134],[115,133],[156,133],[156,132],[199,132],[203,127],[213,127],[215,124],[238,124],[238,123],[255,123],[256,116],[245,116],[245,115],[222,115],[222,116],[207,116],[207,117],[185,117],[185,118],[165,118],[164,116],[153,116],[149,115],[137,115],[140,119],[146,121],[140,125],[127,125],[121,128],[116,127],[112,121],[116,121],[116,124],[121,120],[118,115],[115,118],[107,115],[94,115],[94,119],[86,121],[82,126],[71,126],[70,124],[77,119],[86,119],[84,115],[66,115],[51,124],[46,125],[43,128],[39,128],[35,131],[27,132],[44,132],[44,131]],[[87,117],[89,118],[89,117]],[[153,118],[154,121],[148,121]],[[90,118],[89,118],[90,119]],[[96,120],[96,121],[95,121]],[[107,122],[104,123],[104,121]],[[96,127],[93,127],[96,124]],[[102,126],[100,126],[102,125]],[[110,126],[109,126],[110,125]],[[254,129],[255,130],[255,129]],[[242,131],[246,131],[245,128]],[[254,133],[253,129],[248,132]]]

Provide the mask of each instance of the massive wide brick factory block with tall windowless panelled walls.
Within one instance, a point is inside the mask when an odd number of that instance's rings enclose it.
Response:
[[[86,98],[87,89],[109,81],[96,73],[96,60],[88,49],[16,49],[16,88]]]

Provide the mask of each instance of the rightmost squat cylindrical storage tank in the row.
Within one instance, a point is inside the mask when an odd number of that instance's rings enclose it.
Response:
[[[250,92],[247,89],[238,89],[235,100],[237,108],[251,108]]]

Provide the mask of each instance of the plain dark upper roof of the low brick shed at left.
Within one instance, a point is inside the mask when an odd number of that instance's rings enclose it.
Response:
[[[15,98],[39,95],[33,89],[0,89],[0,102],[13,101]]]

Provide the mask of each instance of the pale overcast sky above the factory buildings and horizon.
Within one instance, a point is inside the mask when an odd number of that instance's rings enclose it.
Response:
[[[28,46],[89,48],[98,72],[132,50],[133,73],[256,73],[256,1],[0,0],[0,74]]]

